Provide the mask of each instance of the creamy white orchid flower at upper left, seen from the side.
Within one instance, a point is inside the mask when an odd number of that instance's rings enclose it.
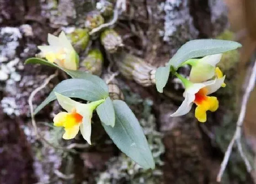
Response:
[[[48,43],[48,46],[38,46],[43,57],[63,68],[77,69],[79,57],[64,32],[61,32],[59,37],[48,34]]]

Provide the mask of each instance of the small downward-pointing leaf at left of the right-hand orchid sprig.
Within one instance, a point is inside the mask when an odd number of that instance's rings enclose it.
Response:
[[[163,93],[170,74],[170,66],[159,67],[155,72],[155,85],[158,92]]]

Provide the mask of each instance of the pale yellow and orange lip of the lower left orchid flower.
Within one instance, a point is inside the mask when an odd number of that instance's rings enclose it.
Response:
[[[65,133],[64,139],[73,139],[79,131],[79,126],[82,123],[83,116],[78,114],[76,110],[71,112],[60,112],[53,118],[54,126],[63,126]]]

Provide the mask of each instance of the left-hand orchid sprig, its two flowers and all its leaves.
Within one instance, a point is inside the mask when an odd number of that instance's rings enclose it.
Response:
[[[25,63],[55,67],[73,79],[57,84],[37,106],[34,114],[51,101],[58,100],[65,111],[54,116],[53,125],[64,128],[63,139],[73,139],[80,131],[85,141],[91,145],[91,118],[96,111],[101,125],[122,152],[143,168],[154,168],[155,162],[147,139],[129,106],[123,100],[112,100],[109,86],[100,77],[79,70],[79,56],[64,32],[59,37],[48,34],[48,43],[47,46],[38,46],[40,58],[29,58]],[[79,98],[87,103],[71,98]]]

